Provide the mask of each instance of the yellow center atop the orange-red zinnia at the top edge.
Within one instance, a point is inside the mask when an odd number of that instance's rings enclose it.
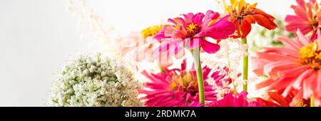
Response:
[[[230,6],[226,5],[225,0],[223,0],[225,11],[236,19],[243,19],[243,16],[251,14],[253,9],[255,9],[257,3],[248,4],[244,0],[230,0]]]

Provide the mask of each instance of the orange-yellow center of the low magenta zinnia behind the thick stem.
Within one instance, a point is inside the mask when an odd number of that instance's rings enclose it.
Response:
[[[171,90],[180,90],[195,95],[197,93],[197,78],[192,73],[183,71],[180,75],[173,75],[173,82],[170,84]]]

